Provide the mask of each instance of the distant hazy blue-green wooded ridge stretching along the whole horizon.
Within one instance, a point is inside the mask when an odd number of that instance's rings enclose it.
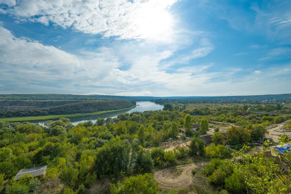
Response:
[[[225,97],[125,97],[109,95],[64,95],[64,94],[0,94],[3,100],[127,100],[127,101],[155,101],[156,103],[252,103],[262,101],[290,102],[291,94],[258,95],[258,96],[225,96]]]

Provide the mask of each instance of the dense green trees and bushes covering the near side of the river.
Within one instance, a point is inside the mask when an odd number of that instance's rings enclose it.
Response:
[[[267,127],[284,122],[289,129],[291,115],[247,118],[238,114],[243,106],[207,109],[125,113],[76,126],[66,118],[45,126],[0,122],[0,193],[289,194],[290,153],[274,157],[264,146],[256,155],[245,153],[263,140]],[[198,131],[193,124],[200,124]],[[210,129],[213,143],[206,145],[201,137]],[[187,146],[164,146],[175,141]],[[280,141],[288,143],[288,136]],[[174,166],[195,163],[201,166],[193,167],[194,182],[185,188],[161,189],[153,174],[174,169],[178,178],[183,168]],[[20,169],[39,165],[48,165],[45,176],[14,180]]]

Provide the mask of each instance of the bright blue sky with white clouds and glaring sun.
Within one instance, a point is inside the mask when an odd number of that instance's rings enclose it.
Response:
[[[291,0],[0,0],[0,94],[291,93]]]

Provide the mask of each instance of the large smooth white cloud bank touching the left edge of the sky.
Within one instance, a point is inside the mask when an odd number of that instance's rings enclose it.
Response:
[[[72,72],[74,68],[83,65],[83,62],[72,54],[25,37],[16,38],[1,26],[0,62],[4,64],[3,69],[7,65],[10,68],[43,74],[52,71]]]

